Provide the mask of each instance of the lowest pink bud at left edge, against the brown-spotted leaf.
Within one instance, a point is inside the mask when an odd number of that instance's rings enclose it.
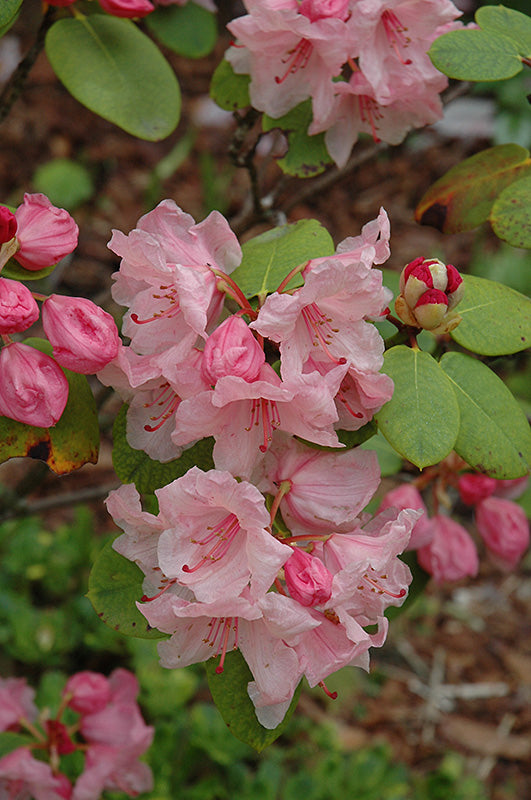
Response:
[[[17,422],[50,428],[68,400],[61,367],[34,347],[13,342],[0,350],[0,414]]]

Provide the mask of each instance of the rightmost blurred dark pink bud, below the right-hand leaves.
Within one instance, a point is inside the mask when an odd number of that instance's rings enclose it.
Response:
[[[494,561],[513,569],[529,546],[524,509],[503,497],[487,497],[476,507],[476,525]]]

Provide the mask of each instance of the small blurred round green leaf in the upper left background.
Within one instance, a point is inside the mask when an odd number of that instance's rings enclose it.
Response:
[[[89,171],[70,158],[54,158],[35,170],[33,185],[45,194],[54,206],[71,211],[94,194]]]

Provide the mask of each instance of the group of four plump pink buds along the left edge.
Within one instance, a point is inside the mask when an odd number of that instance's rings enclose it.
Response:
[[[13,214],[0,207],[4,262],[13,256],[27,270],[53,265],[77,245],[78,228],[70,214],[41,194],[26,194]],[[3,264],[2,264],[3,266]],[[43,301],[42,315],[36,299]],[[28,330],[41,316],[53,358],[13,334]],[[110,314],[82,297],[34,294],[23,283],[0,277],[0,415],[49,428],[68,400],[64,367],[95,373],[118,352],[119,336]]]

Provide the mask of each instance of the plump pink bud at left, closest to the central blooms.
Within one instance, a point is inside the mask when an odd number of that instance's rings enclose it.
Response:
[[[114,319],[91,300],[52,294],[42,306],[42,325],[61,366],[90,375],[112,361],[120,337]]]

